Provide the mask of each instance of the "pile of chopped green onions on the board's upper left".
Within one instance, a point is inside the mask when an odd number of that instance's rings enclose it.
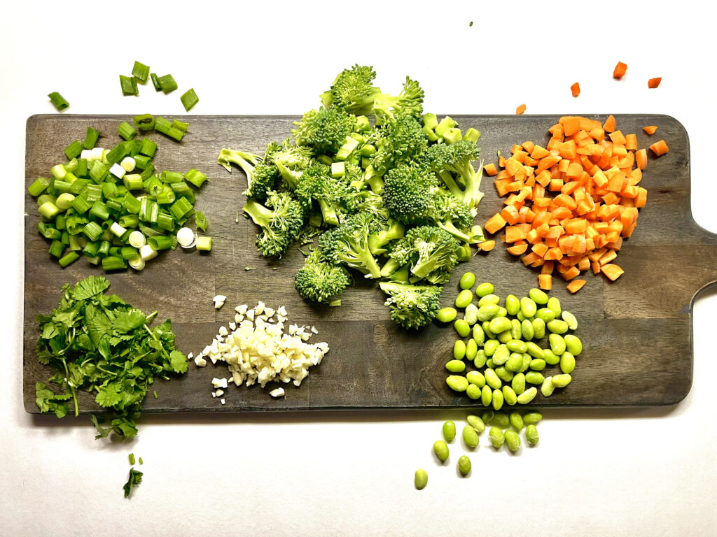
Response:
[[[151,115],[136,117],[135,125],[177,141],[189,127]],[[206,175],[195,169],[158,172],[155,142],[139,138],[128,122],[120,123],[118,134],[123,141],[105,150],[96,147],[100,132],[87,127],[85,140],[65,147],[67,161],[28,188],[41,216],[37,229],[62,267],[85,256],[105,271],[141,270],[158,252],[176,249],[177,231],[192,217],[195,227],[206,231],[204,214],[194,208],[195,189]],[[211,250],[212,239],[199,237],[195,246]]]

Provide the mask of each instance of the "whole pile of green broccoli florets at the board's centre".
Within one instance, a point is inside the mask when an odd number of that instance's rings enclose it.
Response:
[[[473,224],[480,132],[424,113],[410,77],[398,95],[374,79],[373,67],[344,69],[286,140],[264,155],[222,149],[219,164],[247,177],[244,213],[260,228],[262,256],[318,236],[295,278],[304,299],[340,304],[363,274],[379,280],[391,319],[419,329],[435,318],[452,269],[485,240]]]

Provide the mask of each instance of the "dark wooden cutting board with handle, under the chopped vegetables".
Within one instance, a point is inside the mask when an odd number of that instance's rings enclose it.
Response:
[[[507,155],[513,144],[526,140],[545,144],[547,130],[558,116],[454,116],[460,127],[483,133],[479,145],[485,163],[495,162],[498,150]],[[604,120],[606,115],[591,115]],[[287,137],[295,117],[187,116],[189,133],[181,143],[156,132],[158,169],[186,171],[197,168],[210,181],[198,196],[197,208],[209,220],[214,247],[209,255],[196,251],[168,252],[137,273],[131,269],[108,274],[115,294],[143,311],[158,310],[158,319],[171,318],[178,347],[185,353],[201,351],[219,326],[233,320],[234,306],[265,301],[285,306],[290,321],[315,324],[312,341],[331,347],[323,363],[310,370],[300,387],[285,385],[286,397],[274,400],[258,386],[226,390],[226,405],[211,397],[212,377],[228,377],[223,365],[197,368],[190,364],[181,379],[156,382],[158,399],[148,397],[147,412],[232,412],[309,409],[409,409],[473,407],[465,395],[445,384],[444,364],[452,357],[452,327],[428,326],[407,333],[389,319],[384,295],[371,281],[356,279],[356,287],[343,294],[341,307],[308,304],[294,289],[294,274],[303,263],[298,248],[290,248],[279,261],[267,261],[256,251],[257,229],[239,218],[246,188],[244,174],[228,173],[217,164],[222,147],[262,153],[267,142]],[[85,135],[88,126],[103,133],[98,146],[113,147],[120,121],[128,116],[36,115],[27,121],[26,185],[64,159],[62,150]],[[131,121],[131,120],[130,120]],[[609,407],[673,405],[690,390],[693,371],[692,304],[695,294],[717,280],[717,236],[699,227],[690,211],[690,153],[688,135],[680,123],[665,115],[620,115],[622,132],[636,132],[640,147],[664,138],[670,152],[653,158],[642,185],[648,190],[647,206],[632,238],[625,241],[617,263],[625,274],[611,283],[602,276],[585,276],[587,285],[575,295],[556,279],[552,296],[578,317],[576,334],[584,342],[565,390],[535,405],[557,407]],[[655,135],[642,132],[657,125]],[[484,223],[501,206],[491,178],[483,179],[485,198],[477,223]],[[24,298],[24,405],[38,412],[34,384],[49,371],[37,362],[34,349],[39,331],[34,317],[57,306],[62,284],[74,284],[103,271],[84,259],[67,269],[51,260],[48,241],[37,233],[37,205],[25,195],[25,298]],[[244,271],[244,267],[254,271]],[[272,270],[276,268],[276,270]],[[443,302],[452,304],[457,281],[473,271],[478,281],[495,284],[501,296],[523,296],[536,286],[536,272],[510,256],[502,243],[489,254],[481,253],[460,263]],[[215,310],[212,297],[227,296]],[[271,384],[267,387],[273,387]],[[80,395],[82,412],[97,410],[94,397]]]

